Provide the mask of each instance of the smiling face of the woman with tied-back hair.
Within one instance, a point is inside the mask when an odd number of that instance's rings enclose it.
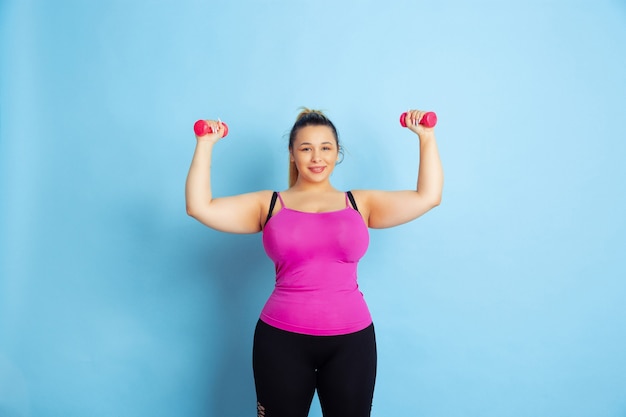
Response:
[[[291,160],[298,168],[298,181],[327,181],[338,156],[337,141],[328,126],[303,127],[291,148]]]

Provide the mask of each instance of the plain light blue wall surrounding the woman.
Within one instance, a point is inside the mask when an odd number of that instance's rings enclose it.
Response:
[[[283,189],[298,107],[338,188],[405,189],[435,110],[443,203],[372,231],[373,416],[626,416],[626,3],[0,1],[0,415],[248,416],[260,235],[187,217]],[[319,416],[314,403],[311,416]]]

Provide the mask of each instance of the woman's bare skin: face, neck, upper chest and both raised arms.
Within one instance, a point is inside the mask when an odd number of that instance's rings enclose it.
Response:
[[[388,228],[414,220],[441,202],[443,168],[435,132],[418,124],[424,112],[411,110],[407,128],[419,140],[419,169],[413,190],[353,190],[363,221],[371,228]],[[206,226],[228,233],[257,233],[267,217],[271,190],[214,198],[211,192],[213,146],[222,138],[221,122],[208,120],[215,133],[196,137],[196,149],[187,176],[187,214]],[[282,191],[285,205],[292,210],[319,213],[346,207],[345,194],[330,182],[339,148],[327,126],[302,128],[290,149],[298,168],[298,180]],[[276,205],[274,212],[280,210]]]

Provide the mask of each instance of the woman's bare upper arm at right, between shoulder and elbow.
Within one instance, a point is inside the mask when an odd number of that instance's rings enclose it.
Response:
[[[368,227],[373,229],[410,222],[439,204],[439,201],[411,190],[355,190],[353,194]]]

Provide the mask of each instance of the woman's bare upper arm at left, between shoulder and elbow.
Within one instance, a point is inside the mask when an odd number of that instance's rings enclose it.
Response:
[[[221,232],[257,233],[261,231],[263,213],[267,211],[271,196],[271,191],[257,191],[214,198],[188,214]]]

